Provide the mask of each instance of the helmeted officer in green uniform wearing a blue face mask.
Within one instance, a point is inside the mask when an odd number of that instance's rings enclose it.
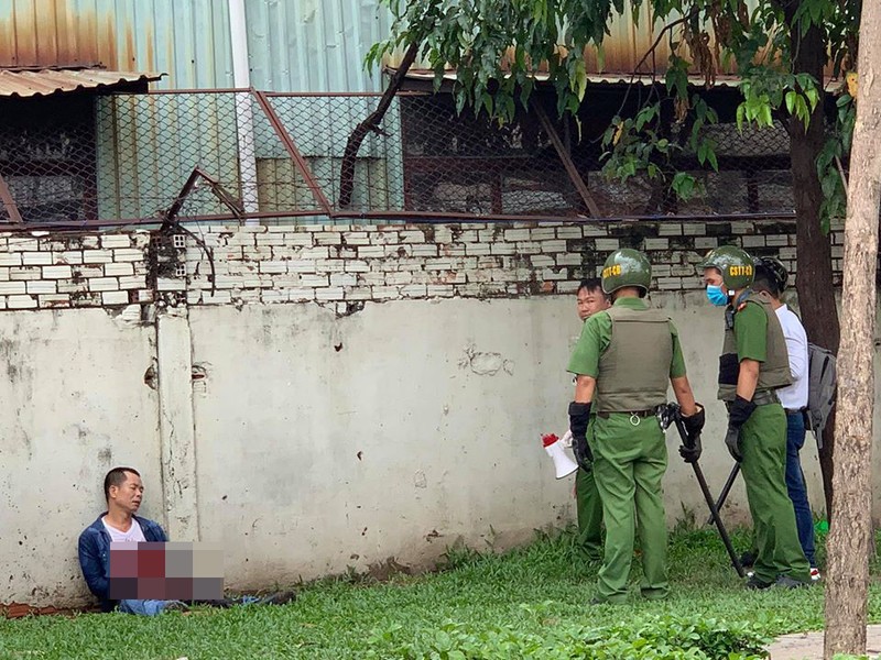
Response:
[[[791,383],[783,330],[768,296],[750,289],[753,261],[743,250],[711,250],[698,268],[709,301],[726,307],[718,398],[728,407],[725,442],[743,471],[759,550],[747,586],[811,584],[786,492],[786,415],[774,394]]]

